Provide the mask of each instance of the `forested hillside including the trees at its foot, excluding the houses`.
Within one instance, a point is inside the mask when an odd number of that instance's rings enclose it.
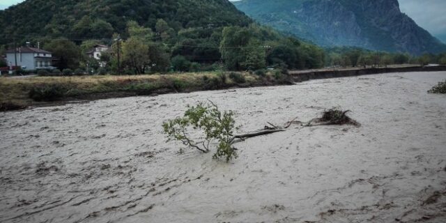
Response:
[[[254,24],[227,0],[27,0],[0,11],[0,31],[3,49],[40,43],[60,69],[98,68],[84,55],[105,44],[112,51],[103,60],[116,72],[117,41],[128,73],[324,64],[322,49]],[[285,48],[288,64],[273,58]]]

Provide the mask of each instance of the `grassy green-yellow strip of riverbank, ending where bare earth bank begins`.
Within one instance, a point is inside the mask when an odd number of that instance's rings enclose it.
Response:
[[[288,75],[266,72],[201,72],[170,75],[74,76],[0,78],[0,102],[6,105],[40,105],[71,99],[190,92],[230,87],[286,84]],[[290,81],[288,81],[289,83]]]

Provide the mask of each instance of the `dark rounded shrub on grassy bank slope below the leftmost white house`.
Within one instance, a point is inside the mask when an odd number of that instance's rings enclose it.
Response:
[[[65,89],[56,84],[33,86],[28,95],[36,101],[54,101],[65,95]]]

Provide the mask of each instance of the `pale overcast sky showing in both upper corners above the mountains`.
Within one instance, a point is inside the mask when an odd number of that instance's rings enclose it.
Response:
[[[23,0],[0,0],[0,9]],[[235,0],[233,0],[235,1]],[[374,1],[374,0],[372,0]],[[446,0],[398,0],[401,11],[446,43]]]

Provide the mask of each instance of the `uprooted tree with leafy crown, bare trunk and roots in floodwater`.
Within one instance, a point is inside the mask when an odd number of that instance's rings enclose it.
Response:
[[[314,118],[308,123],[300,121],[289,121],[285,125],[277,126],[268,122],[263,130],[247,134],[234,135],[236,121],[233,112],[220,112],[217,105],[210,102],[210,105],[199,103],[197,106],[188,106],[184,116],[168,120],[163,123],[164,133],[167,134],[168,141],[181,141],[185,146],[195,148],[203,153],[210,152],[210,146],[217,142],[217,151],[213,155],[215,159],[225,157],[226,162],[237,157],[237,149],[233,146],[239,141],[244,141],[252,137],[265,134],[282,132],[291,125],[301,127],[315,125],[355,125],[359,123],[346,115],[350,111],[340,109],[329,109],[323,112],[321,118]]]

